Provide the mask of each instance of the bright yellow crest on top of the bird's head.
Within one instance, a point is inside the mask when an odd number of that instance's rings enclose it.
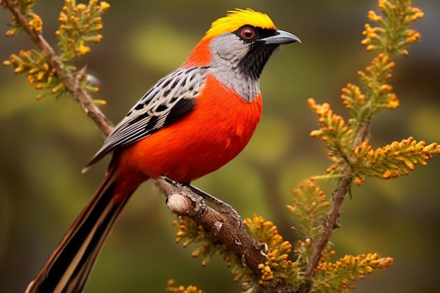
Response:
[[[276,29],[271,18],[269,18],[266,13],[253,11],[250,8],[237,8],[233,11],[228,11],[224,18],[219,18],[212,22],[211,28],[206,32],[204,39],[216,37],[225,32],[234,32],[243,25],[252,25],[264,29]]]

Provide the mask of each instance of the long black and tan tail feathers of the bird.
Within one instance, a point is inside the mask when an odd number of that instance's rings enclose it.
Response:
[[[84,289],[96,256],[132,190],[122,200],[113,199],[116,164],[112,164],[101,186],[63,240],[46,261],[25,293],[79,293]]]

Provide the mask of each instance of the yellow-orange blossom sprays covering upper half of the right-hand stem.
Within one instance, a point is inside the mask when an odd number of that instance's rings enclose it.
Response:
[[[320,129],[311,132],[311,136],[325,141],[328,156],[333,162],[327,169],[328,174],[341,174],[349,167],[354,183],[360,185],[367,176],[393,178],[408,174],[415,164],[425,165],[432,155],[439,154],[435,143],[425,146],[425,142],[417,142],[414,138],[373,150],[365,141],[368,134],[359,136],[359,129],[368,129],[373,115],[399,106],[399,100],[389,84],[395,66],[390,56],[408,54],[406,47],[420,39],[420,34],[410,30],[409,26],[423,17],[422,11],[410,4],[410,0],[379,0],[382,15],[377,15],[375,11],[368,13],[368,18],[380,26],[365,25],[362,44],[368,46],[368,51],[381,53],[373,58],[365,71],[358,71],[363,89],[351,83],[342,89],[342,101],[352,115],[348,124],[341,116],[333,114],[327,103],[316,105],[313,99],[309,99],[309,107],[318,115],[320,126]],[[358,140],[358,136],[362,139]]]

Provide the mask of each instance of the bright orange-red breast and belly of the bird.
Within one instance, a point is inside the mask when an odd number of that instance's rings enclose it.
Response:
[[[119,169],[129,169],[134,176],[164,174],[189,183],[238,155],[261,117],[261,95],[248,103],[234,90],[224,89],[212,74],[206,82],[195,110],[121,150]]]

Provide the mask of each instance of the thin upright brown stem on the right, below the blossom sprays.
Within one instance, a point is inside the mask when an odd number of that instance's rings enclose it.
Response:
[[[358,129],[356,139],[354,140],[354,146],[356,147],[358,145],[361,145],[368,138],[369,135],[370,124],[365,123],[361,125]],[[311,280],[311,278],[313,278],[313,275],[315,275],[316,267],[318,266],[321,255],[330,240],[333,230],[339,227],[342,202],[344,202],[345,195],[349,193],[351,181],[353,181],[353,170],[351,169],[351,167],[348,166],[347,169],[345,169],[342,178],[339,180],[337,189],[332,194],[332,208],[330,209],[323,221],[323,232],[321,233],[318,241],[315,243],[315,247],[313,248],[313,252],[309,259],[309,263],[307,263],[304,277],[309,280]],[[309,292],[309,289],[310,284],[305,284],[304,287],[299,290],[299,292]]]

